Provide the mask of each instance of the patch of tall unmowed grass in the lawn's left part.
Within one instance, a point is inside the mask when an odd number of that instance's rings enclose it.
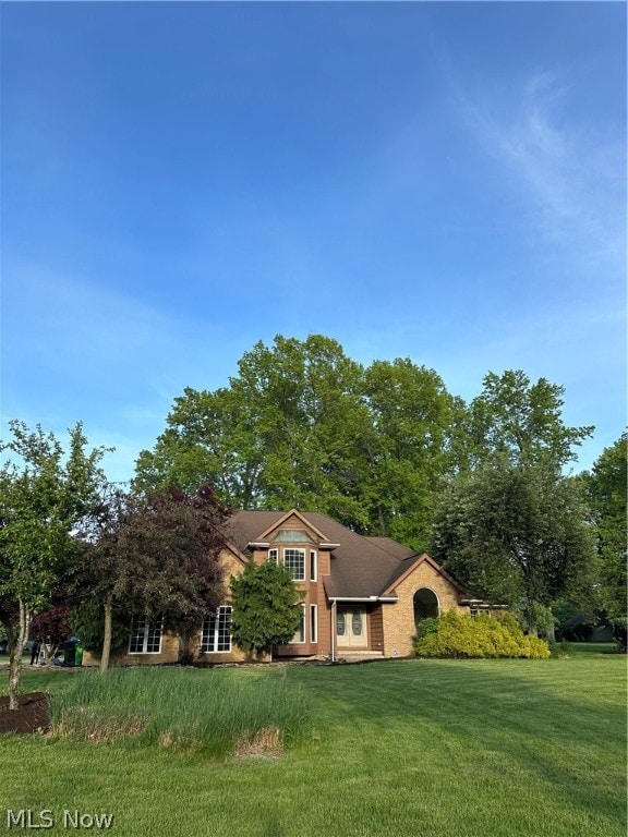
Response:
[[[85,671],[51,704],[58,736],[133,741],[212,757],[274,755],[302,741],[309,701],[283,672],[172,668]]]

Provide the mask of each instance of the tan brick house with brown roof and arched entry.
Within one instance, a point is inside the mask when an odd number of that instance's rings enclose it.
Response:
[[[428,555],[418,555],[389,537],[364,537],[326,514],[239,511],[228,524],[222,551],[227,578],[253,557],[288,567],[303,591],[301,627],[292,642],[274,648],[274,658],[403,657],[421,619],[455,608],[486,608]],[[190,653],[201,663],[244,660],[232,642],[228,596],[198,626]],[[181,641],[158,622],[136,619],[126,648],[112,654],[122,664],[174,663]],[[85,656],[85,663],[95,663]]]

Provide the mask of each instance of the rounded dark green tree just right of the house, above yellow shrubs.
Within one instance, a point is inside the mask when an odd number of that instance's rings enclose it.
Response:
[[[534,628],[539,606],[591,592],[593,542],[577,481],[545,462],[496,458],[456,481],[436,517],[431,553],[470,592],[521,606]]]

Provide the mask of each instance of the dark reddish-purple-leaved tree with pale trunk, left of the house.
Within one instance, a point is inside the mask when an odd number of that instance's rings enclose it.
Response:
[[[220,551],[229,511],[210,486],[192,494],[162,488],[145,495],[112,492],[88,533],[76,587],[100,604],[104,642],[100,670],[109,665],[113,614],[164,619],[188,632],[224,596]]]

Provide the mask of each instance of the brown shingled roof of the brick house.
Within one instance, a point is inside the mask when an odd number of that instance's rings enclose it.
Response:
[[[389,537],[363,537],[326,514],[299,513],[325,536],[325,543],[339,544],[331,551],[331,575],[325,579],[325,590],[333,598],[379,596],[420,560],[416,553]],[[244,551],[285,517],[283,511],[234,512],[229,521],[230,539]]]

